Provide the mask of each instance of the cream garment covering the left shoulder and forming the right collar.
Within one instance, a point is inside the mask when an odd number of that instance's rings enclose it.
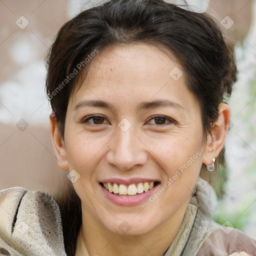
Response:
[[[211,220],[216,202],[213,188],[199,177],[193,194],[165,256],[194,256],[209,231],[219,227]],[[11,256],[66,256],[55,200],[47,193],[22,187],[1,190],[0,248]]]

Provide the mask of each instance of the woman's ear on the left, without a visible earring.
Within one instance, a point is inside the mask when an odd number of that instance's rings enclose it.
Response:
[[[49,116],[50,119],[50,136],[53,144],[53,148],[55,151],[55,155],[57,157],[57,164],[58,167],[62,170],[68,169],[68,163],[67,163],[67,158],[66,158],[66,149],[65,149],[65,144],[64,144],[64,139],[62,138],[56,117],[54,113],[51,113]]]

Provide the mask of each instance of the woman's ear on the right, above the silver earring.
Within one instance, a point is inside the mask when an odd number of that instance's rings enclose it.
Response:
[[[218,118],[212,125],[211,133],[207,135],[202,162],[206,165],[212,163],[224,146],[227,130],[230,123],[230,107],[226,103],[218,105]]]

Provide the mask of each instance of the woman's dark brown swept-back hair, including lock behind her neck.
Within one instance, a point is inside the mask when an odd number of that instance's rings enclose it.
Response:
[[[112,43],[138,42],[164,46],[174,54],[183,67],[187,87],[200,105],[203,131],[211,131],[218,105],[230,96],[236,79],[233,49],[218,24],[206,13],[162,0],[111,0],[66,22],[49,49],[46,92],[63,138],[69,96],[93,61],[85,58],[91,59],[95,49],[100,51]],[[71,73],[75,73],[73,78]],[[75,253],[81,225],[80,201],[73,189],[71,193],[73,196],[63,194],[64,199],[58,199],[67,255]],[[77,216],[71,218],[72,223],[70,215]]]

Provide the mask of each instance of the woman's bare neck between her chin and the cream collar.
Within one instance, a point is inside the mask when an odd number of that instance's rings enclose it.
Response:
[[[75,256],[146,256],[148,253],[161,256],[175,238],[184,218],[187,204],[157,227],[139,235],[115,234],[84,210]],[[84,214],[85,212],[87,214]]]

